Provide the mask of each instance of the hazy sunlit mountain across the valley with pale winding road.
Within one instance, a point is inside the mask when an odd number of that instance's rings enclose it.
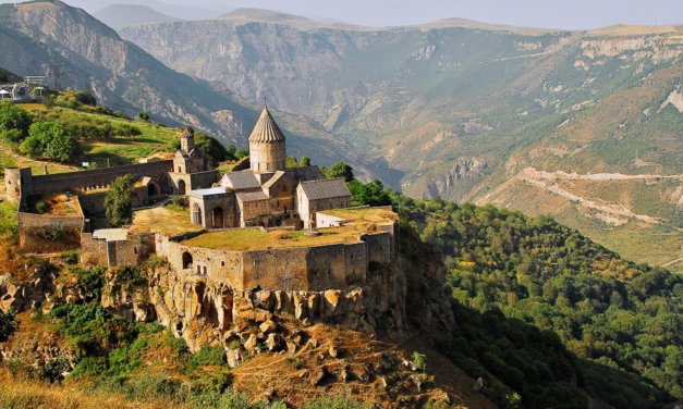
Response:
[[[683,239],[678,30],[331,27],[247,10],[122,36],[178,71],[315,119],[414,197],[551,214],[629,258],[668,263]]]

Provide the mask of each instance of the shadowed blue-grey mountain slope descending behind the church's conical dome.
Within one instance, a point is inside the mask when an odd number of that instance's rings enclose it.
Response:
[[[246,145],[260,112],[225,85],[170,70],[61,1],[0,4],[0,66],[15,74],[48,73],[50,86],[59,78],[63,88],[87,89],[113,109],[131,114],[145,110],[155,122],[192,125],[239,146]],[[361,174],[378,173],[382,166],[302,114],[276,116],[290,137],[290,154],[330,164],[344,152]]]

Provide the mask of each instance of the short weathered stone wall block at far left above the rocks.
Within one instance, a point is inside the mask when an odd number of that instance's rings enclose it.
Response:
[[[83,216],[54,216],[20,212],[19,243],[26,252],[61,252],[81,246]]]

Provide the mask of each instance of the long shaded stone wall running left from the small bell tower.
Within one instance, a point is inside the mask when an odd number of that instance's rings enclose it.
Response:
[[[150,176],[159,186],[166,186],[164,176],[173,168],[172,160],[127,164],[93,171],[59,173],[33,176],[32,195],[66,191],[82,186],[109,185],[117,177],[132,174],[137,177]]]

